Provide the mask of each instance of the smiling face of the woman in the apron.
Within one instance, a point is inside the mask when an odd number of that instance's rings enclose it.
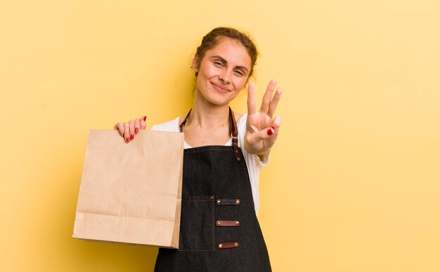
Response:
[[[221,106],[231,102],[245,87],[251,58],[239,41],[221,38],[200,62],[194,59],[193,69],[198,72],[196,97]]]

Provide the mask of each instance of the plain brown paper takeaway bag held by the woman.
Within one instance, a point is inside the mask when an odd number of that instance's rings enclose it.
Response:
[[[91,130],[74,238],[179,247],[183,133]]]

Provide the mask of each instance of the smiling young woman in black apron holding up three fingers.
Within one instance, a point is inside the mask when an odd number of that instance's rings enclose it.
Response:
[[[193,60],[193,108],[152,128],[185,133],[179,250],[160,248],[155,271],[271,271],[256,214],[259,172],[280,128],[274,113],[281,90],[272,80],[257,111],[249,83],[247,114],[229,107],[256,60],[248,36],[213,29]],[[117,123],[115,129],[128,143],[145,129],[145,119]]]

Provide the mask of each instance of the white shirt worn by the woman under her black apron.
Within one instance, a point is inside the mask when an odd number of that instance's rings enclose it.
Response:
[[[246,134],[246,121],[247,114],[243,114],[240,119],[237,121],[237,130],[238,130],[238,147],[240,147],[243,156],[245,156],[245,161],[247,165],[247,170],[249,171],[250,177],[250,186],[252,189],[252,196],[254,198],[255,205],[255,214],[258,215],[259,210],[259,191],[258,191],[258,182],[260,177],[261,169],[264,165],[267,165],[268,158],[261,162],[259,157],[254,154],[247,153],[245,149],[245,134]],[[179,132],[179,117],[174,118],[172,121],[168,121],[166,123],[161,123],[158,125],[153,125],[151,130],[161,130],[161,131],[169,131],[169,132]],[[226,146],[232,145],[232,139],[229,140]],[[184,148],[190,149],[191,147],[184,142]]]

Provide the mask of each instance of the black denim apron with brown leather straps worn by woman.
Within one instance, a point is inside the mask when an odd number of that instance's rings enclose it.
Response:
[[[157,272],[271,271],[231,109],[230,119],[233,147],[183,151],[179,250],[160,248]]]

